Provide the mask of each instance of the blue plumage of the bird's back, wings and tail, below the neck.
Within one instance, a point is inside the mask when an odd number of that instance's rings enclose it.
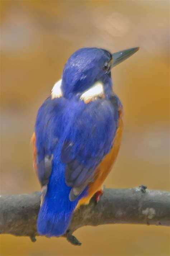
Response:
[[[96,166],[112,147],[114,116],[112,104],[103,99],[87,105],[76,99],[48,98],[39,109],[35,129],[38,158],[42,160],[46,154],[53,154],[52,173],[38,215],[39,234],[58,236],[66,231],[77,202],[88,190]],[[74,161],[77,166],[70,172],[69,163]],[[77,170],[80,165],[82,172]],[[70,201],[71,189],[79,186],[80,194]]]

